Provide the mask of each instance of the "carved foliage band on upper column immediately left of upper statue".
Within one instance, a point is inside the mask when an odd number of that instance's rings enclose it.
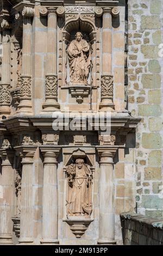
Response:
[[[58,96],[58,78],[56,75],[46,76],[46,99],[57,100]]]

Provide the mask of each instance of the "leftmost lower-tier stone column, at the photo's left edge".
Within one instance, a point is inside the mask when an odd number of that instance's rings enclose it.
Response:
[[[12,160],[14,152],[10,149],[1,149],[2,159],[1,198],[0,198],[0,244],[12,242],[12,214],[14,209],[14,170]]]

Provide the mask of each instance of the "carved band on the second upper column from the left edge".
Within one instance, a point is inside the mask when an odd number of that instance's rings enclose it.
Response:
[[[30,76],[21,77],[21,100],[30,100],[31,99],[31,88],[32,88],[32,79]]]

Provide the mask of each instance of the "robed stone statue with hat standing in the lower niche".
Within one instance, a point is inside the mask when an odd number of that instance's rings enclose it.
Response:
[[[92,174],[83,159],[66,167],[68,177],[66,208],[68,216],[90,216],[92,212]]]

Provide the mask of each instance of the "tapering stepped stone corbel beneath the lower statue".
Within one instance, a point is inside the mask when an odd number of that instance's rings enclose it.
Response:
[[[90,223],[93,220],[63,220],[68,225],[70,225],[70,230],[72,233],[77,237],[80,238],[82,235],[84,235],[85,231],[89,227]]]

